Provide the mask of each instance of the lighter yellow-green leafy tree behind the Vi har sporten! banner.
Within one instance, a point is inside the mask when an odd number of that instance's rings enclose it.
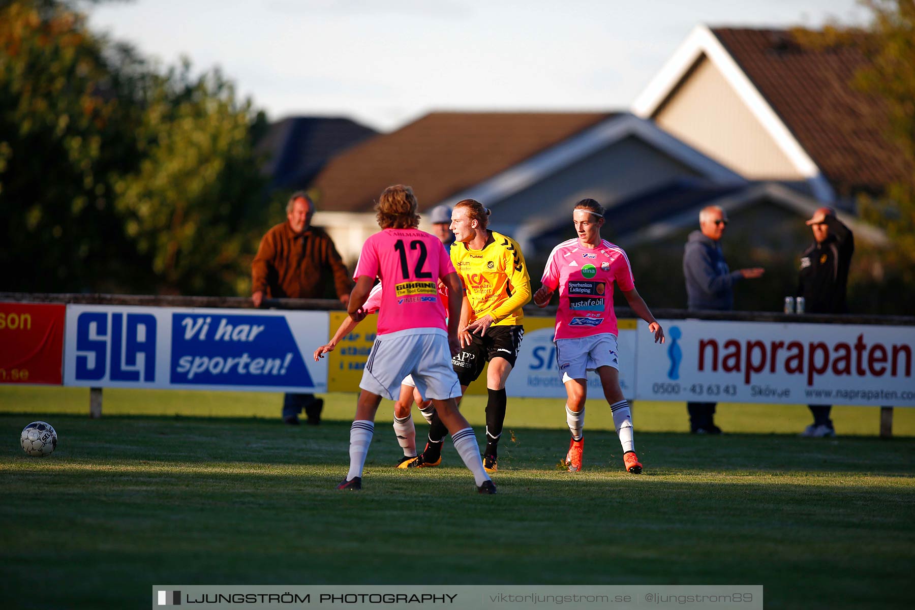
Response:
[[[114,184],[127,234],[162,291],[245,292],[264,230],[250,102],[218,70],[194,78],[185,61],[146,81],[142,105],[142,161]]]

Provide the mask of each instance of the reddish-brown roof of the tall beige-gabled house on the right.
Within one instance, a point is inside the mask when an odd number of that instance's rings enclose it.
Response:
[[[837,194],[881,191],[905,174],[899,148],[884,132],[885,106],[850,84],[867,65],[857,48],[802,47],[785,30],[712,31]]]

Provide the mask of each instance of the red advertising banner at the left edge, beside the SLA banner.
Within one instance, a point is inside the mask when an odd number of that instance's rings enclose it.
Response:
[[[0,303],[0,383],[60,385],[67,305]]]

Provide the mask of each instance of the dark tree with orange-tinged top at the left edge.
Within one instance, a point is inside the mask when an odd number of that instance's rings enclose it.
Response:
[[[128,91],[65,5],[0,8],[0,280],[5,290],[121,284],[135,266],[111,175],[135,157]],[[114,52],[112,55],[117,55]],[[130,62],[121,56],[117,61]],[[134,277],[142,277],[142,269]]]

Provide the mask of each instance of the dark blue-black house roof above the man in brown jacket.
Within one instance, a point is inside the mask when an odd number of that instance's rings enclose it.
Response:
[[[255,150],[273,187],[301,188],[332,155],[375,134],[350,119],[296,116],[271,123]]]

